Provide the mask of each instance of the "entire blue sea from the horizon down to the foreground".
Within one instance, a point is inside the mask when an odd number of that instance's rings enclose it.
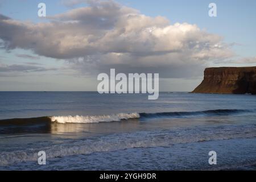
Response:
[[[255,170],[256,96],[0,92],[0,169]]]

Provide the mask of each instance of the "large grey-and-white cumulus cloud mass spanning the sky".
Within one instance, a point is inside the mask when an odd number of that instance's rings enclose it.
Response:
[[[160,77],[198,76],[209,61],[233,56],[221,36],[196,24],[171,24],[163,16],[146,16],[114,1],[86,3],[86,7],[48,17],[47,23],[0,16],[2,46],[65,59],[82,73],[116,68],[157,72]]]

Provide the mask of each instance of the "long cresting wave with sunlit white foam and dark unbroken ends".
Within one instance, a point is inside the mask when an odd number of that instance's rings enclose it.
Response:
[[[0,120],[2,125],[35,125],[38,123],[99,123],[114,122],[127,119],[150,119],[150,118],[185,118],[185,117],[204,117],[214,115],[232,115],[239,113],[250,113],[254,110],[239,109],[218,109],[205,111],[181,111],[181,112],[164,112],[164,113],[119,113],[106,115],[62,115],[39,118],[18,118]]]

